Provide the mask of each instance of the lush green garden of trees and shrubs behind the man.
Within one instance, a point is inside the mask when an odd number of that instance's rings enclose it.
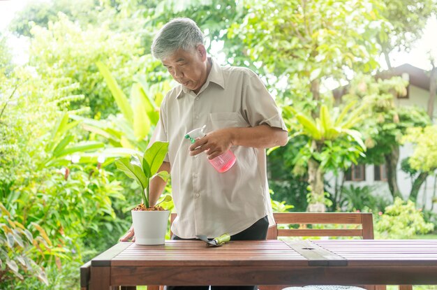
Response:
[[[144,152],[175,85],[149,49],[174,17],[195,20],[209,53],[258,73],[280,106],[290,140],[267,150],[274,210],[371,211],[376,238],[436,238],[433,207],[415,201],[436,175],[437,53],[427,108],[395,106],[408,82],[377,77],[436,12],[435,0],[29,1],[0,31],[0,289],[79,289],[80,265],[131,226],[140,189],[114,160]],[[353,164],[385,164],[390,196],[348,185]]]

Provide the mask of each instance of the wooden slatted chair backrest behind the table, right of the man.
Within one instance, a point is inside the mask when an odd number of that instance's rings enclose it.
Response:
[[[373,239],[373,219],[369,212],[274,212],[275,226],[269,228],[267,240],[278,237],[360,237]],[[278,229],[279,224],[297,224],[298,229]],[[307,225],[343,226],[334,229],[311,229]],[[357,229],[344,226],[357,225]],[[302,229],[303,228],[303,229]]]

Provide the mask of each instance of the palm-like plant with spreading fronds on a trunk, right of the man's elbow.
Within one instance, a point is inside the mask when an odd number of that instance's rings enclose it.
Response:
[[[361,133],[352,128],[361,122],[365,115],[365,104],[351,110],[355,103],[339,111],[339,108],[320,107],[320,118],[313,119],[299,113],[292,107],[284,108],[287,115],[294,115],[299,126],[290,126],[293,136],[304,135],[308,142],[301,148],[295,161],[295,170],[308,168],[309,211],[325,212],[324,175],[327,171],[347,168],[350,161],[357,163],[357,157],[366,150]],[[292,119],[288,117],[288,119]]]

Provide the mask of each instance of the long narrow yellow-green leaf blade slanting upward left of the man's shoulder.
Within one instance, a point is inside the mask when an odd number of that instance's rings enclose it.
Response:
[[[120,89],[117,81],[112,77],[108,67],[102,64],[100,61],[98,61],[96,65],[98,70],[103,75],[103,78],[105,78],[106,84],[108,85],[112,96],[114,96],[115,103],[117,103],[117,106],[119,106],[121,113],[123,113],[124,117],[129,123],[133,124],[133,111],[131,105],[129,104],[128,98]]]

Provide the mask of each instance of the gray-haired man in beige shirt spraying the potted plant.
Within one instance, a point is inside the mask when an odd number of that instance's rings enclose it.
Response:
[[[207,57],[202,31],[178,18],[158,31],[151,52],[179,82],[161,104],[154,140],[168,141],[160,170],[170,172],[177,219],[172,239],[208,238],[229,233],[231,240],[264,240],[274,224],[265,148],[287,143],[287,129],[274,99],[248,68],[219,66]],[[185,134],[206,125],[206,136],[191,144]],[[231,150],[237,161],[218,173],[207,159]],[[150,184],[151,204],[165,187]],[[121,240],[134,235],[130,229]],[[207,287],[168,287],[168,289]],[[232,289],[232,287],[212,287]],[[256,289],[256,287],[234,287]]]

